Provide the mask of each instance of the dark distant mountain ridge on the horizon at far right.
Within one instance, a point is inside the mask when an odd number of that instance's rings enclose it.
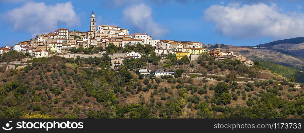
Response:
[[[284,39],[284,40],[278,40],[278,41],[273,41],[267,44],[260,44],[255,47],[270,47],[278,44],[299,44],[304,42],[304,37],[295,37],[295,38],[290,38],[290,39]]]

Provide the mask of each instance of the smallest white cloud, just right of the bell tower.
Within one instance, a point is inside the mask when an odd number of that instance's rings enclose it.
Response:
[[[152,37],[161,37],[168,32],[157,24],[151,15],[152,9],[145,4],[132,5],[123,11],[124,19],[140,32],[148,33]]]

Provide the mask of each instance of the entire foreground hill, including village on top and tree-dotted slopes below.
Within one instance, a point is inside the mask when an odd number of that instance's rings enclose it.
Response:
[[[90,20],[0,48],[0,118],[304,118],[302,78],[249,51]]]

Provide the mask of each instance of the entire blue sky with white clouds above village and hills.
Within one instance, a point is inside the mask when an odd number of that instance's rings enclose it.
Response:
[[[58,28],[89,31],[116,25],[153,39],[254,46],[303,37],[300,0],[0,0],[0,46],[29,40]]]

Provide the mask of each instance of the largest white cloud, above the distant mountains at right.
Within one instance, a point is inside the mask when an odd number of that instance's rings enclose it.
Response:
[[[204,12],[204,18],[215,24],[216,33],[231,38],[304,36],[304,14],[285,12],[274,3],[211,5]]]

